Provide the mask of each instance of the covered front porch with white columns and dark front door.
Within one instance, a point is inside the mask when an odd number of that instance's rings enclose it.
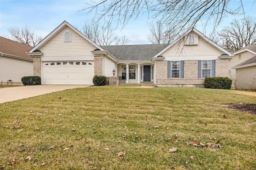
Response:
[[[154,84],[154,62],[118,62],[116,76],[120,84]]]

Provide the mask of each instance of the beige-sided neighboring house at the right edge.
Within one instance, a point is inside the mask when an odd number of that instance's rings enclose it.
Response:
[[[234,52],[230,60],[232,87],[256,89],[256,44],[250,44]]]

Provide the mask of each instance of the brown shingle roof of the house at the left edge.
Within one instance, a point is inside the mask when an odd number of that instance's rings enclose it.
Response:
[[[0,53],[32,59],[33,57],[26,54],[33,47],[23,43],[15,42],[4,37],[0,37]]]

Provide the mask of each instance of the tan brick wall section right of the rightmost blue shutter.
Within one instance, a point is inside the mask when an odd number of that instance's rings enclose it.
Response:
[[[215,61],[215,77],[228,77],[229,60],[218,59]]]

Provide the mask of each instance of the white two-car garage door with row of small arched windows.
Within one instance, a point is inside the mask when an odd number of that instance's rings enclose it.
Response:
[[[94,61],[44,61],[44,85],[92,85]]]

